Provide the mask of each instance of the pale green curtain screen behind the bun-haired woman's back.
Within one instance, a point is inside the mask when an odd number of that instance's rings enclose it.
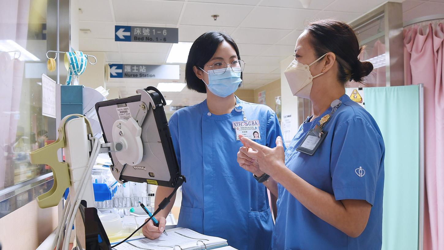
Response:
[[[364,88],[365,109],[385,142],[383,250],[417,250],[419,86]]]

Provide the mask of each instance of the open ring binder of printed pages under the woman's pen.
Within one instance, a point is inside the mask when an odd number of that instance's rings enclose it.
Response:
[[[210,250],[228,246],[226,239],[199,234],[188,228],[179,227],[166,232],[168,235],[162,234],[155,240],[137,236],[116,247],[111,244],[111,247],[113,250]]]

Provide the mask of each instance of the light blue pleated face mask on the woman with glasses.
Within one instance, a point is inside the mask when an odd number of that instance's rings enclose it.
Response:
[[[199,67],[202,69],[201,67]],[[216,72],[223,72],[225,69],[215,69]],[[208,84],[204,80],[206,87],[213,93],[219,97],[227,97],[234,93],[242,83],[241,72],[234,72],[231,68],[227,68],[225,73],[221,75],[214,74],[213,70],[206,72],[208,74]]]

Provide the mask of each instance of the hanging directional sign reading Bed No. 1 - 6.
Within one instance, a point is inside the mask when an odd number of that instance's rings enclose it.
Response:
[[[178,28],[115,25],[114,40],[118,42],[143,42],[177,44]]]

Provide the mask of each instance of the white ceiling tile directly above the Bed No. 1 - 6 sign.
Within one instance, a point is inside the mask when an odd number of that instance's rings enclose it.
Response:
[[[116,22],[177,24],[181,1],[113,0]]]

